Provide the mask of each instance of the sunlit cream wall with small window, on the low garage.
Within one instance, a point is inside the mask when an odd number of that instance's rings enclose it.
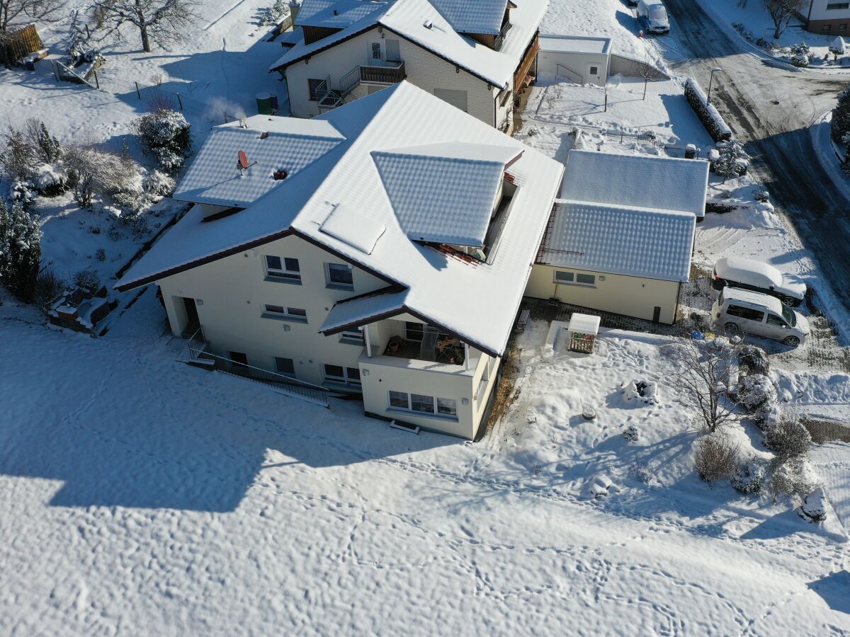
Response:
[[[595,274],[596,285],[556,285],[553,282],[556,270]],[[539,263],[531,269],[529,283],[525,288],[526,296],[541,299],[557,297],[564,303],[647,320],[652,320],[657,306],[661,308],[660,322],[667,324],[675,321],[678,291],[679,284],[676,281],[641,279],[575,268],[553,268]]]

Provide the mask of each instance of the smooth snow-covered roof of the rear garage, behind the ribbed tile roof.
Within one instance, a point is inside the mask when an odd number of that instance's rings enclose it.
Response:
[[[561,198],[706,214],[708,162],[570,150]]]

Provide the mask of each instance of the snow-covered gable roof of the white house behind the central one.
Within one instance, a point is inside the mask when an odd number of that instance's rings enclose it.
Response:
[[[487,3],[490,3],[490,0],[487,0]],[[512,27],[507,31],[498,51],[462,35],[428,0],[388,0],[387,3],[365,4],[375,5],[374,11],[328,37],[310,44],[305,44],[303,40],[298,42],[271,65],[269,70],[284,69],[301,59],[331,48],[337,42],[382,25],[411,42],[416,42],[422,48],[449,59],[485,82],[490,82],[496,87],[507,87],[513,80],[513,73],[543,19],[548,0],[516,0],[517,8],[511,10]],[[460,0],[446,0],[446,4],[457,4],[459,7],[467,3]],[[458,9],[458,12],[458,14],[468,13],[467,9],[464,11]],[[501,15],[499,20],[501,24]]]

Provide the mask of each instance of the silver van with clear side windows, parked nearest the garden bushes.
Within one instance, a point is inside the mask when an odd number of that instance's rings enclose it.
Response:
[[[789,347],[798,346],[811,334],[801,313],[782,305],[775,296],[750,290],[724,288],[711,307],[711,316],[727,334],[764,336]]]

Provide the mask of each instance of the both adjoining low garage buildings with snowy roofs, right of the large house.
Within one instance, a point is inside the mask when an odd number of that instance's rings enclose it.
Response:
[[[676,320],[708,162],[570,150],[528,296]]]

